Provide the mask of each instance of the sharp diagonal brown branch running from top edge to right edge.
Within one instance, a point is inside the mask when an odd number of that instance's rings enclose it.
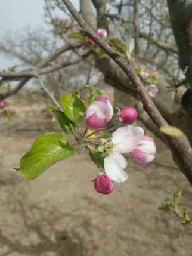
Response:
[[[154,105],[151,98],[146,94],[145,87],[140,78],[138,78],[135,73],[133,60],[125,59],[121,57],[119,54],[113,51],[113,49],[107,44],[107,42],[98,38],[95,35],[94,30],[86,24],[85,20],[83,20],[82,16],[76,11],[75,7],[69,0],[61,0],[70,11],[72,16],[76,19],[79,25],[82,27],[83,35],[91,38],[97,45],[99,45],[110,58],[116,62],[116,64],[126,73],[128,78],[131,80],[135,90],[137,90],[138,94],[141,97],[141,101],[144,104],[144,109],[147,111],[148,115],[151,117],[153,122],[157,125],[157,127],[161,127],[162,125],[168,125],[165,121],[157,107]],[[188,178],[192,185],[192,149],[190,143],[187,140],[187,137],[183,135],[179,138],[166,137],[166,141],[169,144],[169,147],[174,153],[175,158],[178,161],[178,165],[180,166],[182,172]]]

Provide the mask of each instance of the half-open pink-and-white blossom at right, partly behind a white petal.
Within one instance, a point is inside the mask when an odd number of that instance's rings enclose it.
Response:
[[[137,147],[130,153],[132,158],[141,163],[148,163],[153,161],[156,153],[156,146],[153,138],[144,136],[143,140],[138,143]]]

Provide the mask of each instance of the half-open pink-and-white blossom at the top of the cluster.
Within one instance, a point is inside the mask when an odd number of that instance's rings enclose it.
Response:
[[[92,129],[99,129],[113,117],[113,107],[107,95],[101,95],[89,105],[86,110],[86,125]]]

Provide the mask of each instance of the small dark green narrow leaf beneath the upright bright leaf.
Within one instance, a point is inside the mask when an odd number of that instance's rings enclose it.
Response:
[[[72,133],[71,126],[73,126],[73,123],[67,118],[66,115],[60,110],[52,109],[53,115],[57,118],[57,122],[60,125],[61,129],[67,134]]]

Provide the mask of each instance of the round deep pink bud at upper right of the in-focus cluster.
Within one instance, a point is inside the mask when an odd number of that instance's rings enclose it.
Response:
[[[137,116],[138,113],[134,107],[123,107],[119,112],[119,121],[125,124],[131,124]]]

